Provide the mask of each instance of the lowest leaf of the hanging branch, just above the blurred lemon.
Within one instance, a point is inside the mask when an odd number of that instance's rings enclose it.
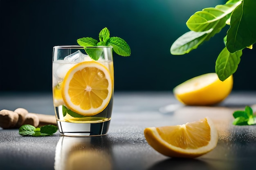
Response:
[[[242,54],[242,50],[230,53],[226,47],[220,52],[216,60],[215,71],[221,81],[236,72]]]

